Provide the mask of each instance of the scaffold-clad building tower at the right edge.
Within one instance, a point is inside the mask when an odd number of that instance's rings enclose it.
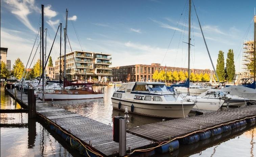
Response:
[[[250,70],[248,70],[247,65],[249,65],[253,59],[254,59],[254,50],[253,50],[253,46],[254,46],[254,41],[245,41],[243,43],[243,55],[242,55],[242,78],[249,78],[249,77],[253,77],[253,74],[250,73]]]

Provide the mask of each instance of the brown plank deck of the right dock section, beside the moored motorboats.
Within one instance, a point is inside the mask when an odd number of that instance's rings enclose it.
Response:
[[[194,131],[204,130],[252,116],[256,116],[256,105],[233,108],[228,112],[214,111],[206,115],[145,124],[139,127],[132,127],[129,129],[129,132],[154,140],[155,142],[161,142],[184,136]]]

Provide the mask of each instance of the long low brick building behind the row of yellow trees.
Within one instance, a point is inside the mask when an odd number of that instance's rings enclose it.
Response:
[[[183,71],[187,72],[187,68],[179,68],[179,67],[166,67],[161,66],[159,63],[152,63],[151,65],[127,65],[127,66],[119,66],[112,67],[112,80],[113,81],[122,81],[122,82],[136,82],[136,81],[151,81],[153,82],[152,76],[154,72],[158,70],[164,71]],[[200,73],[211,73],[210,69],[190,69],[190,72],[195,74]]]

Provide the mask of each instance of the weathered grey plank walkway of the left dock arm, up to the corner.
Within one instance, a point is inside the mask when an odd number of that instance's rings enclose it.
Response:
[[[9,94],[12,94],[11,90]],[[17,91],[16,100],[20,100],[21,91]],[[13,95],[12,95],[13,96]],[[27,105],[26,94],[23,94],[23,100]],[[45,118],[52,123],[60,126],[63,130],[69,132],[93,150],[99,152],[102,156],[113,156],[119,151],[119,143],[113,141],[113,127],[97,122],[90,118],[69,112],[65,109],[53,107],[48,103],[36,102],[37,116]],[[132,149],[141,149],[150,146],[151,140],[139,137],[137,135],[126,133],[126,150],[131,146]]]

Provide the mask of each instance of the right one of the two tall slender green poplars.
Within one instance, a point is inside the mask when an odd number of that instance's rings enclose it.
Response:
[[[226,59],[226,68],[227,68],[227,81],[232,82],[232,79],[235,75],[235,64],[234,64],[234,53],[233,50],[229,49]]]

